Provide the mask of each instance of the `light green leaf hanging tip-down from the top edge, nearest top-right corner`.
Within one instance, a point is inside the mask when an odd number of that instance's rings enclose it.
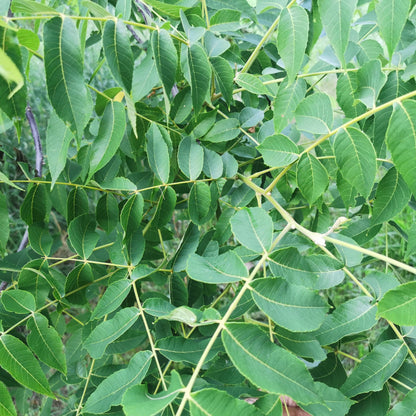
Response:
[[[399,43],[410,4],[410,0],[379,0],[376,3],[377,24],[381,37],[386,42],[390,59]]]

